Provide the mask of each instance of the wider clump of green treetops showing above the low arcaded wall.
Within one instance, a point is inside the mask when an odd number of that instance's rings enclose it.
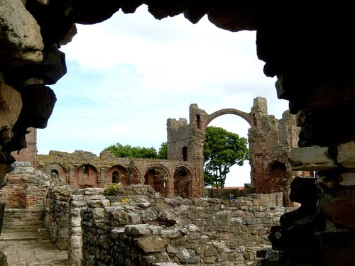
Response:
[[[105,148],[104,150],[109,151],[110,153],[119,158],[129,157],[155,159],[158,157],[158,153],[153,147],[131,147],[131,145],[122,145],[121,143],[116,143],[116,145],[111,145]]]

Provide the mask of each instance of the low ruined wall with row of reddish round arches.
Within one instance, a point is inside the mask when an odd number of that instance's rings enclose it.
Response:
[[[152,184],[164,196],[197,194],[193,162],[117,158],[108,152],[102,152],[98,157],[93,153],[76,150],[75,153],[50,151],[49,155],[38,155],[37,168],[65,179],[67,184],[77,188],[107,187],[113,182],[122,182]],[[181,182],[189,187],[187,192]]]

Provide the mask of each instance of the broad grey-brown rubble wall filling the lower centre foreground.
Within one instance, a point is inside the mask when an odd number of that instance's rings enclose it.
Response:
[[[244,265],[256,260],[256,246],[268,245],[269,229],[285,211],[258,196],[160,199],[144,210],[90,204],[82,213],[83,265]]]

